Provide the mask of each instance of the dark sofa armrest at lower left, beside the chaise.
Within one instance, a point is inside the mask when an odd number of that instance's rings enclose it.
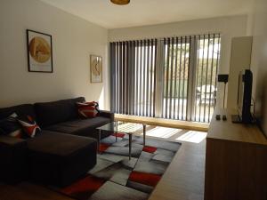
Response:
[[[27,141],[0,136],[0,180],[17,183],[28,176]]]

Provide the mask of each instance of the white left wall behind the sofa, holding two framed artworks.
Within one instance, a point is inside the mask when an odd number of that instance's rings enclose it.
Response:
[[[27,28],[53,36],[53,74],[28,72]],[[108,108],[107,37],[107,29],[49,4],[1,0],[0,108],[77,96]],[[90,54],[103,57],[103,84],[90,83]]]

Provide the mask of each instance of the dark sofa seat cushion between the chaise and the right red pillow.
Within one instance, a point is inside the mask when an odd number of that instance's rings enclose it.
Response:
[[[76,134],[76,135],[97,138],[97,136],[94,134],[95,128],[107,124],[109,122],[110,118],[97,116],[94,118],[77,119],[60,124],[54,124],[52,126],[46,127],[45,129],[54,132],[66,132],[69,134]]]

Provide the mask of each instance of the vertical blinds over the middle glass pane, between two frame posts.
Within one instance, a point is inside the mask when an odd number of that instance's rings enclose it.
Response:
[[[164,39],[164,97],[162,117],[185,120],[187,116],[190,37]]]

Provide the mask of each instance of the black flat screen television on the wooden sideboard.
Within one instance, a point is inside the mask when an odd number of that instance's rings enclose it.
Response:
[[[238,115],[232,116],[233,123],[249,124],[252,122],[251,108],[251,93],[252,93],[252,72],[245,69],[239,72],[239,88],[237,109]]]

